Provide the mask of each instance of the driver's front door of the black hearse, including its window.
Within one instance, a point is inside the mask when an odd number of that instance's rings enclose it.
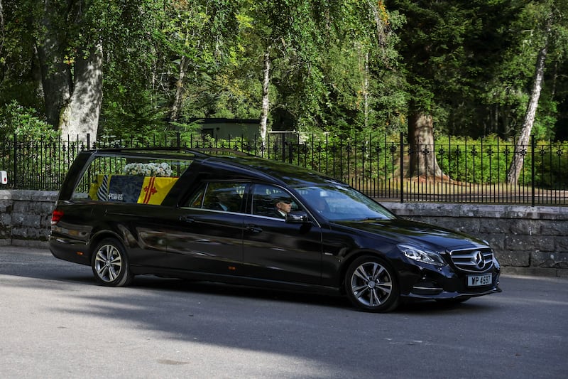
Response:
[[[275,203],[297,199],[278,186],[251,186],[248,215],[244,218],[243,264],[246,276],[281,282],[320,284],[322,231],[317,223],[286,223]]]

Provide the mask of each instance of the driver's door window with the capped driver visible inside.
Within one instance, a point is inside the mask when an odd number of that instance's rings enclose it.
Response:
[[[256,184],[253,187],[253,215],[285,218],[286,213],[298,209],[292,196],[282,188],[265,184]]]

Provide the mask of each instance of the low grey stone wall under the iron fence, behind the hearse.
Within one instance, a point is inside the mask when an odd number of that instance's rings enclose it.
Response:
[[[56,192],[0,190],[0,246],[47,246],[56,197]],[[404,218],[487,240],[505,273],[568,277],[567,207],[381,203]]]

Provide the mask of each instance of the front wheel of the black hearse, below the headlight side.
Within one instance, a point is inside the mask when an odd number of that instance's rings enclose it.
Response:
[[[388,312],[400,304],[400,287],[391,266],[379,257],[366,255],[349,265],[345,292],[351,303],[363,311]]]

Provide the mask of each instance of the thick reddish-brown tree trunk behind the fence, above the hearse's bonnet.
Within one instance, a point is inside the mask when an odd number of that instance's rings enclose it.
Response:
[[[410,166],[407,177],[444,175],[438,166],[434,151],[434,123],[432,116],[414,112],[408,119],[408,143],[410,144]]]

